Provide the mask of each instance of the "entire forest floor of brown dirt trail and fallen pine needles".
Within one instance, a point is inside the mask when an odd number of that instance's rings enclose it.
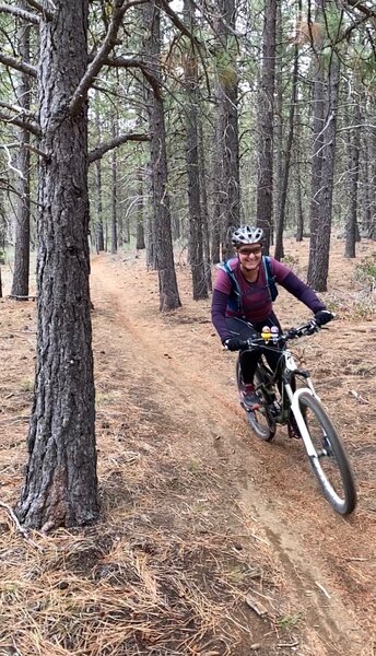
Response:
[[[287,241],[305,276],[308,244]],[[210,302],[158,313],[143,254],[92,260],[97,525],[25,539],[20,495],[35,364],[35,303],[0,300],[0,655],[374,656],[376,654],[375,302],[354,278],[375,256],[333,239],[330,329],[294,353],[312,372],[356,475],[337,515],[302,444],[249,431]],[[309,313],[283,290],[284,327]]]

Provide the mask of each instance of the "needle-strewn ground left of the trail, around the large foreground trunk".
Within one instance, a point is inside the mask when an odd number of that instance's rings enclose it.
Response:
[[[26,457],[34,312],[1,301],[1,499],[10,505]],[[107,330],[106,313],[94,314],[102,519],[25,539],[0,507],[0,654],[242,654],[277,622],[271,606],[266,620],[245,602],[250,588],[277,589],[268,561],[240,523],[223,526],[234,491],[199,457],[181,455],[167,418],[126,393],[121,344],[116,335],[109,344]],[[263,637],[265,653],[275,641],[274,631]]]

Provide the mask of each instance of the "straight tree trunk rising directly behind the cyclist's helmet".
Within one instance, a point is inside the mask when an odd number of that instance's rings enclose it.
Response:
[[[258,115],[257,225],[269,253],[273,218],[273,112],[275,85],[277,0],[265,0],[262,73]]]

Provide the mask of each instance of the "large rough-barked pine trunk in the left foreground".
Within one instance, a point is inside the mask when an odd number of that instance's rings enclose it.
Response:
[[[87,108],[67,99],[87,61],[87,0],[40,19],[38,327],[30,459],[17,514],[35,528],[98,515],[89,292]]]

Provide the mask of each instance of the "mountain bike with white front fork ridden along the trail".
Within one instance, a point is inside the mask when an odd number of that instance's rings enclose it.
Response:
[[[321,491],[336,512],[349,515],[356,506],[356,489],[344,446],[318,398],[309,372],[299,370],[286,343],[306,337],[320,328],[315,319],[291,328],[266,341],[255,337],[240,342],[240,352],[255,347],[265,352],[277,349],[281,354],[274,372],[262,353],[255,374],[255,389],[260,400],[258,410],[249,410],[243,400],[244,383],[240,360],[236,363],[236,380],[247,419],[252,431],[271,441],[278,424],[287,424],[289,435],[303,441]]]

